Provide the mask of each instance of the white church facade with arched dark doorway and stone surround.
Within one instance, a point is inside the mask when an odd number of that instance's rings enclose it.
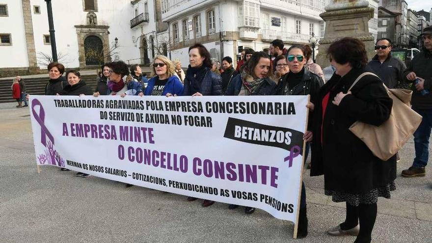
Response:
[[[57,55],[67,68],[140,57],[132,38],[131,0],[52,0],[52,9]],[[0,72],[44,69],[44,56],[52,54],[46,2],[1,0],[0,23],[0,56],[8,57],[0,59]]]

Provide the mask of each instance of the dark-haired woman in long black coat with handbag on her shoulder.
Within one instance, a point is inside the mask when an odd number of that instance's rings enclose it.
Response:
[[[349,127],[355,121],[379,126],[389,118],[393,102],[382,81],[371,75],[348,92],[359,75],[370,72],[363,42],[346,37],[331,44],[327,53],[336,72],[315,103],[311,176],[324,174],[324,193],[347,205],[345,222],[327,233],[370,243],[378,197],[390,198],[396,189],[396,157],[381,161]]]

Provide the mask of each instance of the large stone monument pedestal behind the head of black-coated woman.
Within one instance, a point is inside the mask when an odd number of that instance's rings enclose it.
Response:
[[[320,40],[317,63],[321,67],[330,65],[327,49],[335,40],[354,37],[362,40],[366,46],[368,59],[375,55],[374,37],[369,33],[368,21],[374,17],[374,8],[365,0],[333,0],[320,14],[325,21],[324,38]]]

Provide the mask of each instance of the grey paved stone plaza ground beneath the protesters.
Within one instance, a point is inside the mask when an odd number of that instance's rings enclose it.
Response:
[[[28,108],[0,104],[0,242],[241,242],[352,243],[327,228],[345,218],[344,203],[324,195],[324,178],[305,171],[309,235],[293,239],[294,224],[257,210],[245,215],[215,203],[132,187],[94,176],[75,177],[54,166],[36,170]],[[79,151],[77,151],[78,153]],[[397,190],[378,201],[374,243],[432,243],[432,165],[427,176],[403,178],[414,157],[412,139],[400,152]]]

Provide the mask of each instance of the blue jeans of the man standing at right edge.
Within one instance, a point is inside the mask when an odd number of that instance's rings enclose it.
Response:
[[[425,167],[429,159],[429,137],[432,128],[432,109],[412,109],[423,116],[422,122],[414,132],[415,158],[413,167]]]

